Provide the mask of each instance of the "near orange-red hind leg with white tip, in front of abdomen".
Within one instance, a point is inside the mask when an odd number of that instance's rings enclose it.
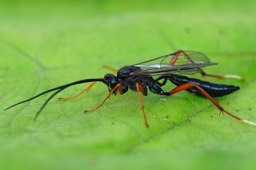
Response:
[[[234,117],[235,119],[238,119],[240,121],[243,121],[247,124],[252,124],[254,126],[256,126],[255,123],[251,122],[251,121],[247,121],[247,120],[244,120],[244,119],[241,119],[235,115],[232,115],[231,113],[229,113],[227,110],[225,110],[224,108],[222,108],[222,106],[220,106],[220,104],[218,104],[218,102],[216,102],[215,99],[213,99],[213,97],[211,97],[206,91],[204,91],[204,89],[202,89],[200,86],[196,85],[196,84],[193,84],[193,83],[186,83],[186,84],[182,84],[181,86],[177,86],[176,88],[174,88],[169,94],[170,95],[173,95],[175,93],[178,93],[180,91],[183,91],[183,90],[186,90],[188,88],[191,88],[191,87],[195,87],[197,88],[198,90],[200,90],[208,99],[211,100],[211,102],[220,110],[220,113],[222,112],[225,112],[227,113],[228,115]]]

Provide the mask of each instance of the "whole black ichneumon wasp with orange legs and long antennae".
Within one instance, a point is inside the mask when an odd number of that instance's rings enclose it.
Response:
[[[170,96],[177,92],[186,90],[191,93],[195,93],[196,95],[206,96],[220,110],[220,113],[223,114],[223,112],[225,112],[228,115],[234,117],[235,119],[238,119],[247,124],[252,124],[256,126],[256,123],[254,122],[240,119],[239,117],[236,117],[235,115],[229,113],[227,110],[222,108],[222,106],[220,106],[220,104],[218,104],[218,102],[215,99],[213,99],[213,97],[221,97],[223,95],[228,95],[230,93],[233,93],[234,91],[237,91],[238,89],[240,89],[238,86],[226,85],[226,84],[214,84],[207,81],[202,81],[200,79],[194,79],[194,78],[189,78],[184,76],[184,75],[200,73],[202,76],[210,76],[210,77],[217,77],[217,78],[236,78],[243,81],[243,78],[237,75],[223,75],[223,76],[209,75],[209,74],[206,74],[204,71],[202,71],[202,68],[205,66],[211,66],[211,65],[217,65],[217,64],[218,63],[210,62],[207,56],[204,55],[203,53],[195,52],[195,51],[178,50],[175,53],[164,55],[162,57],[157,57],[155,59],[148,60],[146,62],[133,64],[131,66],[123,66],[117,71],[117,76],[113,74],[106,74],[103,78],[83,79],[77,82],[52,88],[34,97],[31,97],[30,99],[14,104],[6,108],[5,110],[13,106],[16,106],[18,104],[35,99],[36,97],[43,95],[45,93],[49,93],[51,91],[57,90],[46,100],[46,102],[37,112],[34,118],[34,120],[36,120],[41,110],[45,107],[45,105],[49,102],[49,100],[52,99],[52,97],[54,97],[57,93],[63,91],[65,88],[69,86],[73,86],[75,84],[92,82],[92,84],[90,84],[88,88],[83,90],[78,95],[70,98],[59,98],[59,99],[64,99],[64,100],[73,99],[75,97],[78,97],[85,91],[88,92],[96,82],[103,82],[108,87],[108,91],[109,91],[108,96],[103,100],[103,102],[97,108],[92,110],[85,110],[84,111],[85,113],[93,110],[97,110],[98,108],[100,108],[103,105],[103,103],[111,95],[113,94],[117,95],[117,93],[122,95],[126,93],[128,89],[130,89],[131,91],[135,91],[138,93],[139,102],[144,114],[145,124],[147,127],[149,127],[146,120],[144,105],[143,105],[140,93],[146,96],[148,95],[148,89],[149,89],[152,93],[155,93],[158,95]],[[154,76],[158,76],[158,77],[153,78]],[[162,80],[162,82],[159,82],[160,80]],[[172,82],[177,86],[170,92],[164,92],[161,88],[166,84],[167,80],[169,80],[170,82]]]

